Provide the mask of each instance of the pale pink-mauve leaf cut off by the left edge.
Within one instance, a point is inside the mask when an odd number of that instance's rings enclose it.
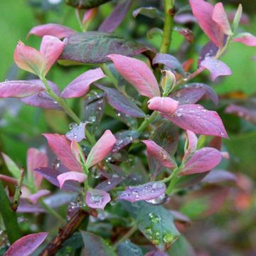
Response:
[[[28,97],[45,90],[43,85],[26,80],[0,82],[0,97]]]

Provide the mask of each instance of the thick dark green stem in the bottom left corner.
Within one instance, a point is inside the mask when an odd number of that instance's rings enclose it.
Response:
[[[11,203],[9,201],[8,196],[6,195],[6,191],[4,190],[4,186],[0,181],[0,213],[4,220],[4,225],[6,227],[6,233],[8,235],[9,241],[14,243],[16,240],[21,238],[21,230],[18,227],[18,221],[16,213],[11,210]]]

